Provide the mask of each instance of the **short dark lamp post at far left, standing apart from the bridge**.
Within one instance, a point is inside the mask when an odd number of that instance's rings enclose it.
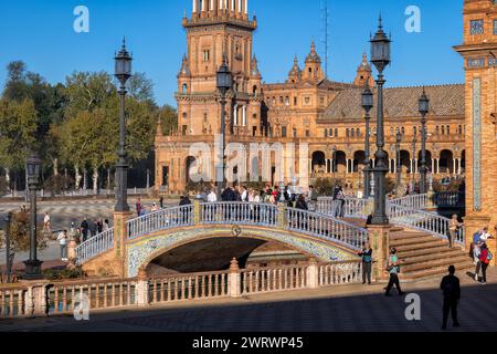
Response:
[[[24,279],[36,280],[42,279],[41,264],[42,261],[36,257],[36,190],[40,178],[41,160],[35,153],[28,157],[28,186],[30,190],[30,259],[24,261],[25,273]]]

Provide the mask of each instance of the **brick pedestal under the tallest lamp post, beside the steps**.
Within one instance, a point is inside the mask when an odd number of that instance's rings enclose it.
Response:
[[[373,250],[372,275],[377,280],[387,280],[387,260],[389,258],[389,237],[391,226],[368,226],[369,241]]]

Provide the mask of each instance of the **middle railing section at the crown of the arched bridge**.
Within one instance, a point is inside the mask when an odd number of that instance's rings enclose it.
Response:
[[[271,204],[221,201],[201,205],[202,223],[275,226],[278,208]]]

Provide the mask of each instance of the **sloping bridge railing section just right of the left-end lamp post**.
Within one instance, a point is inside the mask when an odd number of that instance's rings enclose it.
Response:
[[[155,231],[192,226],[193,206],[188,205],[161,209],[159,211],[128,220],[126,225],[128,229],[128,239],[130,240]]]

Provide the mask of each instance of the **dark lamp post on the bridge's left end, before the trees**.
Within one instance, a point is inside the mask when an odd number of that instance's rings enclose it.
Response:
[[[120,112],[119,112],[119,149],[118,160],[116,164],[116,207],[117,212],[128,212],[128,162],[126,154],[126,117],[125,117],[125,97],[126,97],[126,82],[131,77],[131,61],[133,58],[126,50],[126,42],[123,40],[123,48],[114,58],[116,62],[115,76],[119,80],[120,86],[118,94],[120,96]]]

